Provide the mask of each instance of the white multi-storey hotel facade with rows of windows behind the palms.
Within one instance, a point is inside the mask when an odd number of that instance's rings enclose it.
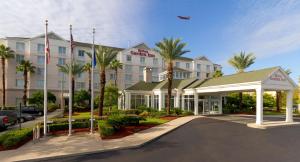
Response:
[[[51,53],[50,64],[48,65],[48,91],[55,94],[57,103],[60,103],[61,99],[64,98],[62,96],[66,97],[68,93],[68,77],[58,71],[57,65],[63,65],[70,61],[69,41],[53,32],[48,34],[48,38]],[[22,101],[24,80],[22,73],[16,71],[16,66],[21,60],[30,60],[36,66],[35,73],[29,74],[28,96],[31,96],[35,91],[43,90],[44,42],[43,34],[32,38],[0,38],[0,44],[4,44],[15,51],[15,58],[6,61],[7,106],[15,106]],[[85,52],[91,52],[91,47],[90,43],[75,42],[74,56],[76,62],[80,64],[90,62],[91,60]],[[165,78],[165,63],[162,57],[146,44],[141,43],[127,49],[111,48],[119,51],[117,59],[123,64],[123,68],[118,73],[117,85],[120,90],[143,80],[145,67],[152,69],[153,82]],[[175,60],[174,65],[174,79],[205,79],[211,77],[215,70],[221,69],[220,65],[214,64],[203,56],[196,59],[182,57]],[[109,82],[113,83],[116,77],[114,71],[108,69],[106,75],[108,84]],[[94,71],[94,76],[95,93],[98,93],[99,74],[97,69]],[[86,72],[76,76],[75,80],[76,90],[88,89],[88,74]],[[2,87],[0,90],[2,90]]]

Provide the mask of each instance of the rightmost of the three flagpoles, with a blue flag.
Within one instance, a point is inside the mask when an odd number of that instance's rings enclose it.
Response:
[[[95,66],[95,28],[93,28],[92,73],[91,73],[91,134],[94,133],[94,66]]]

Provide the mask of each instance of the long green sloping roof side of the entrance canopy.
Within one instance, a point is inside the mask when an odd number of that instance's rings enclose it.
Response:
[[[236,83],[246,83],[246,82],[255,82],[265,80],[274,70],[277,70],[279,67],[271,67],[261,70],[237,73],[232,75],[225,75],[218,78],[210,78],[205,80],[203,83],[200,83],[196,87],[188,88],[200,88],[200,87],[209,87],[217,85],[226,85],[226,84],[236,84]],[[194,85],[195,86],[195,85]]]

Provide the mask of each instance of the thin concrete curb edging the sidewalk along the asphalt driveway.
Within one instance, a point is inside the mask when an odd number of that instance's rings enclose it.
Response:
[[[194,118],[194,119],[197,119],[197,118]],[[193,121],[194,119],[182,124],[182,125],[179,125],[157,137],[154,137],[144,143],[141,143],[141,144],[138,144],[138,145],[133,145],[133,146],[125,146],[125,147],[119,147],[119,148],[111,148],[111,149],[105,149],[105,150],[96,150],[96,151],[89,151],[89,152],[82,152],[82,153],[74,153],[74,154],[68,154],[68,155],[58,155],[58,156],[52,156],[52,157],[44,157],[44,158],[38,158],[38,159],[27,159],[27,160],[20,160],[20,161],[44,161],[44,160],[55,160],[55,159],[59,159],[59,158],[68,158],[68,157],[72,157],[72,156],[81,156],[81,155],[91,155],[91,154],[96,154],[96,153],[107,153],[107,152],[112,152],[112,151],[118,151],[118,150],[126,150],[126,149],[137,149],[137,148],[141,148],[151,142],[154,142],[155,140],[158,140],[159,138],[161,138],[162,136],[165,136],[173,131],[175,131],[176,129],[178,129],[179,127],[181,126],[184,126],[186,125],[187,123]]]

